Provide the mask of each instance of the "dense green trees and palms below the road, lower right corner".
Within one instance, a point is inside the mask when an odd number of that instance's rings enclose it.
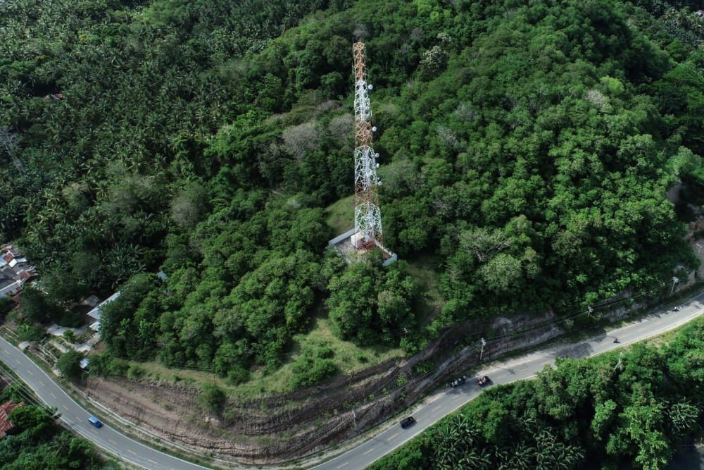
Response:
[[[490,388],[372,468],[407,459],[427,468],[662,468],[701,433],[701,388],[680,375],[683,360],[700,356],[701,326],[666,345],[562,359],[534,381]]]

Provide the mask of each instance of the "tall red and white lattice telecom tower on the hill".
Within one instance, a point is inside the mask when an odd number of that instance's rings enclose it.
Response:
[[[363,42],[352,44],[355,79],[355,149],[354,149],[354,226],[352,243],[356,249],[382,247],[382,211],[379,209],[381,182],[377,178],[377,157],[372,148],[372,108],[367,84],[367,66]]]

